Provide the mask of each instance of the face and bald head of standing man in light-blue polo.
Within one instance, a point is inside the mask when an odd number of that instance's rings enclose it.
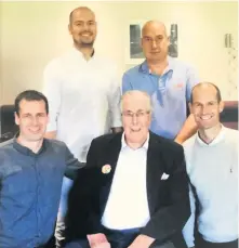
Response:
[[[150,21],[142,30],[142,49],[147,61],[163,61],[168,56],[169,38],[164,24]]]

